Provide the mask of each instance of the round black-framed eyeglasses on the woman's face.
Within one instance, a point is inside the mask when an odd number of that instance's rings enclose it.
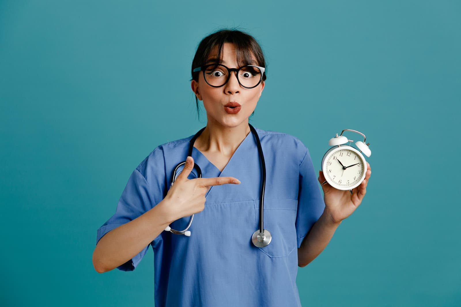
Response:
[[[203,78],[213,88],[219,88],[231,78],[231,71],[235,71],[237,81],[247,89],[253,89],[260,84],[266,68],[256,65],[245,65],[240,68],[228,68],[222,64],[208,64],[193,70],[203,71]]]

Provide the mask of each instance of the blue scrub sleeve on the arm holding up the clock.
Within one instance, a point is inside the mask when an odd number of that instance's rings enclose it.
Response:
[[[302,146],[302,148],[305,148],[305,146]],[[301,246],[307,232],[320,218],[325,209],[325,201],[320,192],[317,177],[309,150],[305,148],[304,158],[299,165],[298,212],[296,215],[298,248]]]

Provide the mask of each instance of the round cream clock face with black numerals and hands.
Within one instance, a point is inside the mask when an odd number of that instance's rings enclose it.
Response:
[[[357,153],[341,149],[326,161],[324,175],[338,186],[349,187],[358,183],[363,170],[363,160]]]

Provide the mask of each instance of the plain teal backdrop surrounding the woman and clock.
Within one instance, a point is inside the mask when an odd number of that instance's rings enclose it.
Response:
[[[154,305],[152,249],[133,272],[99,274],[96,230],[148,153],[205,126],[195,48],[240,27],[267,60],[250,123],[301,139],[317,170],[335,133],[371,143],[361,206],[299,268],[302,305],[460,306],[460,13],[459,1],[1,0],[2,305]]]

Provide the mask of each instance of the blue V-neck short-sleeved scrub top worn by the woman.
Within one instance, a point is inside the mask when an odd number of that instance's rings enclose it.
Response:
[[[325,208],[309,151],[294,136],[255,128],[266,161],[264,228],[272,241],[251,242],[259,228],[261,168],[253,133],[248,133],[221,172],[197,149],[192,157],[202,177],[238,178],[212,186],[205,209],[194,215],[191,236],[163,231],[154,250],[155,306],[301,306],[297,248]],[[115,214],[98,230],[108,231],[142,215],[163,200],[174,167],[187,157],[189,136],[155,148],[131,174]],[[192,173],[194,173],[192,171]],[[196,177],[193,174],[189,178]],[[183,230],[190,217],[171,223]],[[119,270],[132,271],[149,245]],[[301,291],[307,289],[301,289]]]

